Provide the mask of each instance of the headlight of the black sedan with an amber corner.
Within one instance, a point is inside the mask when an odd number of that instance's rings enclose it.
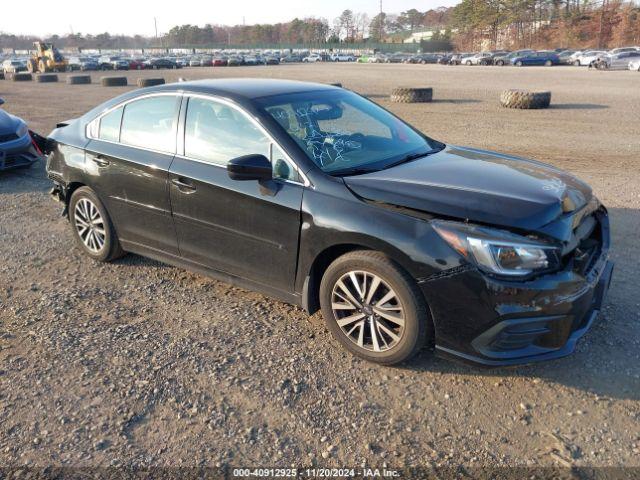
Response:
[[[503,230],[434,221],[438,235],[480,269],[496,275],[526,276],[560,266],[560,247]]]

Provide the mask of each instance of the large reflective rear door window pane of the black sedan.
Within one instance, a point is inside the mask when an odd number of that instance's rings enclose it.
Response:
[[[120,142],[174,153],[176,127],[177,97],[162,95],[144,98],[125,105]]]

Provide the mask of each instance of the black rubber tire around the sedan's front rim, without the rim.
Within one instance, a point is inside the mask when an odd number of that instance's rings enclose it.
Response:
[[[337,323],[332,309],[333,289],[351,271],[374,274],[396,293],[404,313],[404,330],[397,343],[386,351],[363,348],[349,339]],[[433,339],[433,324],[422,293],[415,280],[381,252],[359,250],[337,258],[325,271],[320,283],[320,305],[326,325],[333,337],[349,352],[367,361],[393,365],[415,355]],[[360,328],[365,328],[364,325]]]

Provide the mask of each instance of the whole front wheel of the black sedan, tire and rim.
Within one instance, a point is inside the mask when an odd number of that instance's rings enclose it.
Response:
[[[334,338],[370,362],[403,362],[433,336],[415,280],[381,252],[336,259],[322,278],[320,304]]]

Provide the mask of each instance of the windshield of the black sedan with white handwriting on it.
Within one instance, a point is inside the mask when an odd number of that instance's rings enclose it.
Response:
[[[331,175],[375,171],[442,148],[375,103],[347,91],[278,95],[259,103]]]

